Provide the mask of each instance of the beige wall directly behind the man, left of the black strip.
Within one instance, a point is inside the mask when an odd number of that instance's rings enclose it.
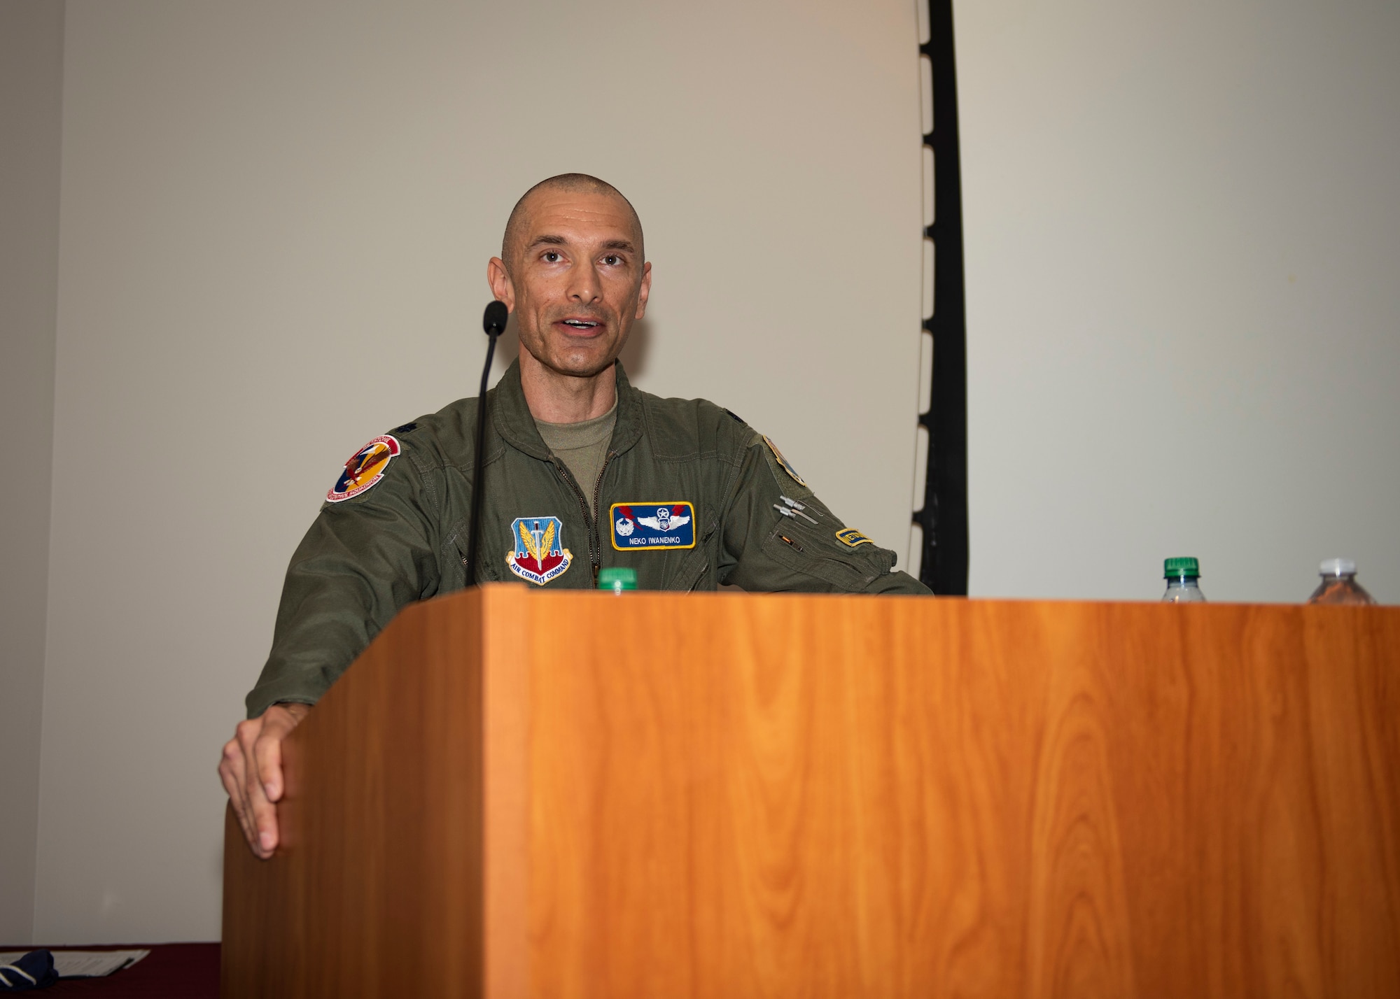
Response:
[[[214,939],[218,746],[347,453],[475,395],[487,257],[566,169],[636,203],[643,388],[907,544],[911,0],[73,0],[36,935]]]

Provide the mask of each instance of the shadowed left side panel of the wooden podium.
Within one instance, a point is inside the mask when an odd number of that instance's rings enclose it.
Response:
[[[482,604],[399,614],[286,743],[281,844],[224,824],[221,993],[480,995]]]

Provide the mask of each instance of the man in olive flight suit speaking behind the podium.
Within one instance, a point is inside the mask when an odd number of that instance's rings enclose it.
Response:
[[[846,527],[763,435],[704,400],[627,382],[617,354],[651,291],[641,222],[581,173],[532,187],[487,264],[519,360],[487,395],[473,581],[587,589],[928,593]],[[287,569],[272,655],[220,777],[258,856],[277,846],[281,740],[405,604],[463,588],[476,400],[349,462]]]

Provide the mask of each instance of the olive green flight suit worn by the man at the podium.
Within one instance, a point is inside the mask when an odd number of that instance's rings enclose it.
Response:
[[[559,518],[568,568],[547,586],[589,589],[598,569],[627,565],[640,589],[928,593],[895,553],[864,541],[778,463],[739,417],[703,399],[631,388],[617,365],[617,423],[596,483],[577,483],[550,455],[521,389],[519,362],[487,393],[486,494],[476,579],[515,581],[507,555],[517,518]],[[476,399],[391,431],[400,453],[372,487],[326,502],[297,547],[277,610],[272,655],[248,715],[279,701],[314,704],[405,604],[466,585]],[[780,515],[780,497],[805,505]],[[613,547],[612,504],[694,509],[694,547]],[[595,519],[591,509],[596,509]],[[848,541],[855,541],[854,547]]]

